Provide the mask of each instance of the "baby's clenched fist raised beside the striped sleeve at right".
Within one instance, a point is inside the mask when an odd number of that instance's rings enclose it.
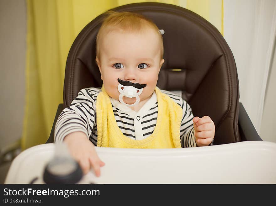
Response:
[[[215,136],[215,124],[208,116],[194,117],[194,136],[197,146],[208,146]]]

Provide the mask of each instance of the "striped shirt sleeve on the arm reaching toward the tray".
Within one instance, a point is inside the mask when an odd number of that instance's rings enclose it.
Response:
[[[81,131],[89,139],[95,124],[96,99],[99,91],[82,89],[71,105],[62,110],[55,126],[55,142],[61,142],[66,135]]]

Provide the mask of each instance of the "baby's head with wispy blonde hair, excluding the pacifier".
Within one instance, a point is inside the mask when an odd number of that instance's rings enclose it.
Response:
[[[153,93],[164,62],[158,27],[136,13],[109,12],[97,35],[96,61],[108,95],[119,100],[118,79],[146,84],[140,101]],[[138,91],[137,91],[138,92]],[[127,104],[135,98],[123,97]]]

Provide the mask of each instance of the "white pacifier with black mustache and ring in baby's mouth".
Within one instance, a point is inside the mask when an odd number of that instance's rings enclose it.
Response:
[[[129,81],[123,81],[118,79],[118,91],[120,92],[119,101],[128,107],[134,107],[140,102],[139,95],[143,92],[143,88],[146,87],[146,84],[131,83]],[[123,97],[136,98],[135,103],[127,104],[123,101]]]

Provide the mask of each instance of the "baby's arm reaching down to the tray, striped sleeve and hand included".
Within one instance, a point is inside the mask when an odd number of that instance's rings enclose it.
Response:
[[[98,93],[96,92],[95,95],[98,95]],[[95,146],[89,140],[89,135],[92,133],[96,121],[96,97],[88,93],[86,89],[82,89],[78,93],[77,98],[61,112],[56,122],[55,141],[61,142],[64,140],[71,155],[80,163],[85,174],[92,166],[96,176],[99,176],[99,168],[104,163],[99,160]],[[97,142],[95,145],[97,145]]]

